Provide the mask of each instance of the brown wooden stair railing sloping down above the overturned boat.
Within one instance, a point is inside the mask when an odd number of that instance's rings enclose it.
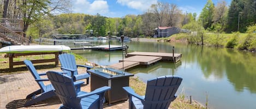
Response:
[[[7,38],[16,41],[17,43],[23,44],[23,45],[29,45],[29,40],[25,37],[15,33],[14,31],[5,28],[3,25],[0,24],[0,35]],[[13,42],[14,43],[14,42]]]

